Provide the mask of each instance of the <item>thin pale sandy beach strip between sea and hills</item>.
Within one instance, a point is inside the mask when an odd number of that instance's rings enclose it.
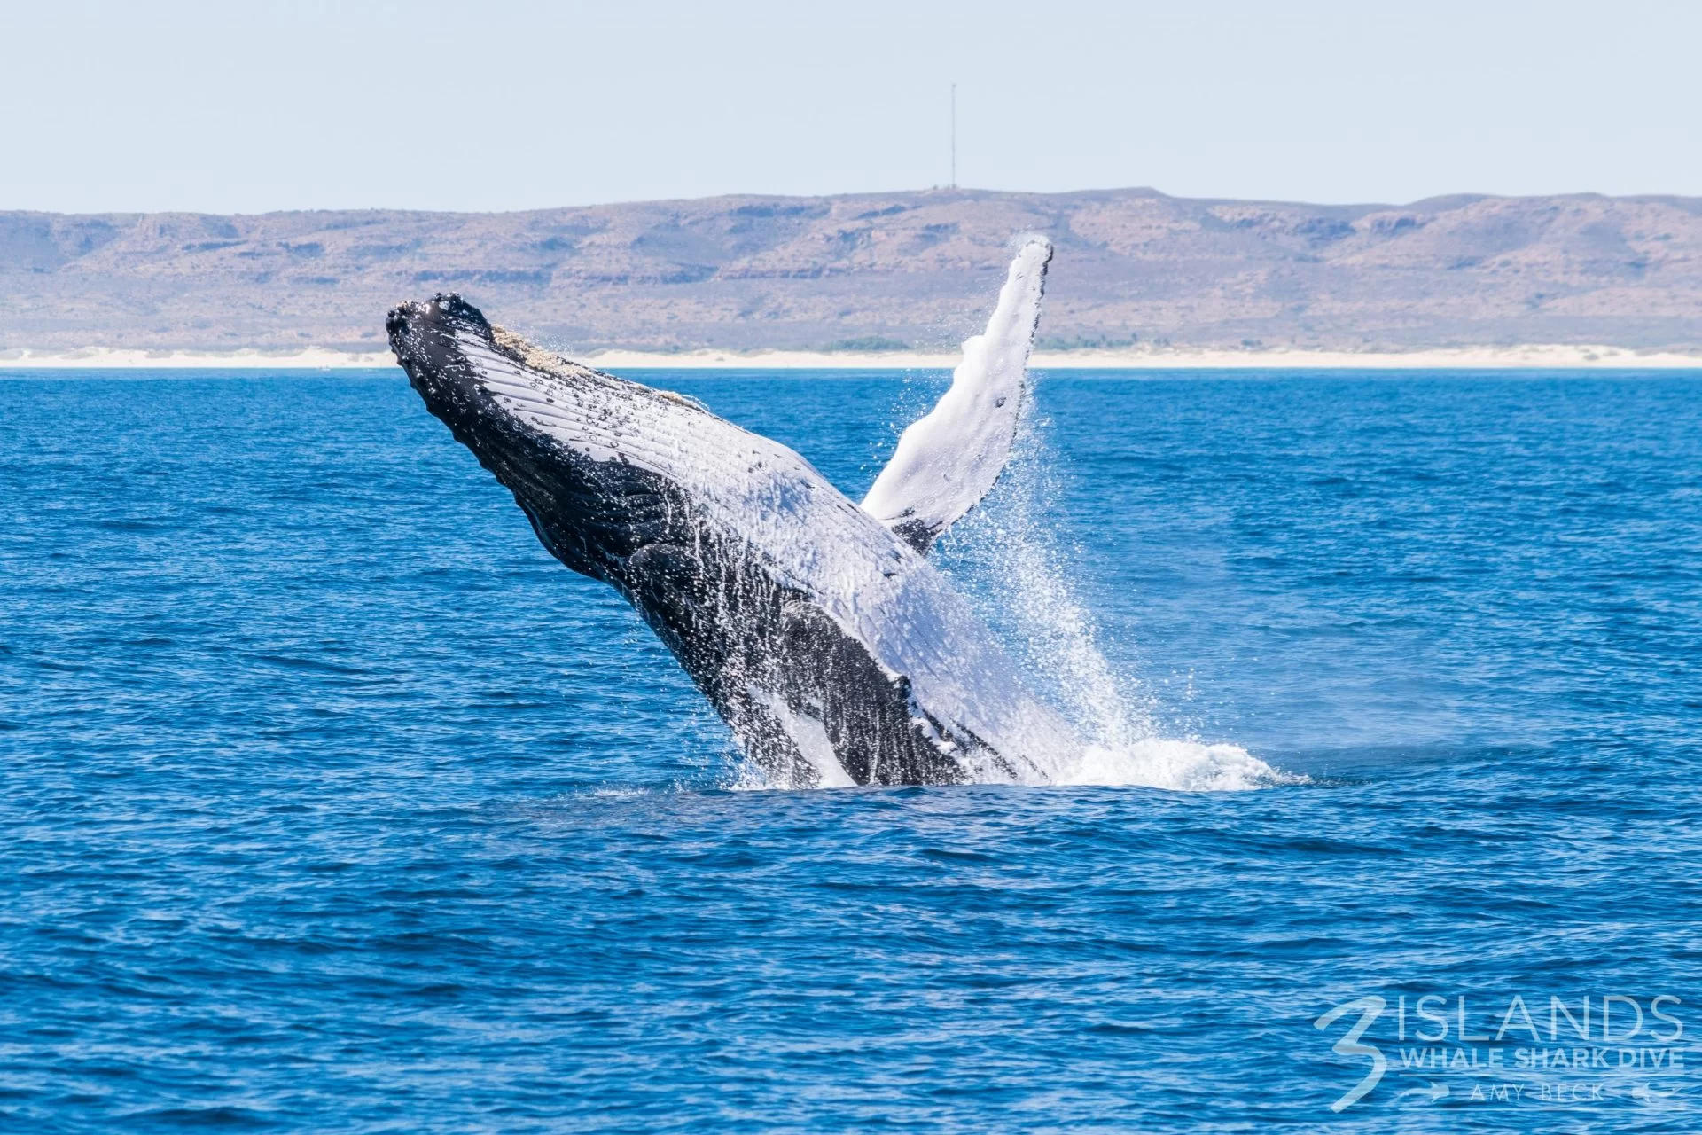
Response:
[[[570,356],[604,369],[951,369],[957,352],[921,351],[596,351]],[[397,366],[388,351],[143,351],[83,347],[80,351],[0,352],[3,369],[376,369]],[[1479,369],[1702,369],[1702,352],[1637,351],[1631,347],[1525,344],[1516,347],[1431,347],[1423,351],[1232,351],[1232,349],[1108,349],[1037,351],[1035,369],[1190,371],[1190,369],[1343,369],[1343,371],[1479,371]]]

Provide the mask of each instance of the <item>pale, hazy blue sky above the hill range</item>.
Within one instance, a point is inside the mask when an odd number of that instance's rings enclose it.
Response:
[[[0,0],[0,209],[1702,196],[1702,3]]]

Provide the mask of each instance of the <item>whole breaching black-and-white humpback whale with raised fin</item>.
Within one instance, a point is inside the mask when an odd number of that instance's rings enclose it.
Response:
[[[1019,245],[985,334],[861,505],[786,446],[456,294],[386,330],[426,408],[555,558],[633,604],[771,783],[1052,783],[1081,740],[926,558],[1009,456],[1050,259]]]

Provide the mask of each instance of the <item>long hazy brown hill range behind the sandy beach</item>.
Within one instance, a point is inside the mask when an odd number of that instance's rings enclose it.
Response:
[[[574,349],[946,347],[1025,230],[1059,248],[1050,347],[1702,347],[1702,199],[940,189],[534,213],[0,213],[0,351],[374,349],[385,310],[432,291]]]

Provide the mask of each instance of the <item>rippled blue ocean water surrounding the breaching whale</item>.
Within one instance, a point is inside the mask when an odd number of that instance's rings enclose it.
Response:
[[[766,788],[400,371],[14,373],[0,1128],[1702,1130],[1702,376],[1048,373],[938,560],[1088,783]]]

